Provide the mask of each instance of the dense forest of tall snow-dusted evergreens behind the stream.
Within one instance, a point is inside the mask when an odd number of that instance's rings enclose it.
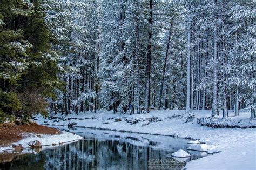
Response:
[[[0,0],[0,116],[255,116],[253,0]]]

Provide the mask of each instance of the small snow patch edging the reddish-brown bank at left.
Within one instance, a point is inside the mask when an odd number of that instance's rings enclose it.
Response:
[[[41,137],[38,137],[36,134],[29,133],[27,134],[26,138],[19,140],[18,142],[13,143],[12,145],[22,144],[24,148],[31,148],[28,145],[29,142],[38,140],[44,148],[44,146],[52,146],[52,144],[56,144],[57,146],[62,143],[83,139],[83,137],[80,137],[79,135],[65,131],[60,131],[60,134],[56,135],[39,134],[39,136]],[[0,152],[13,149],[12,145],[7,147],[0,147]]]

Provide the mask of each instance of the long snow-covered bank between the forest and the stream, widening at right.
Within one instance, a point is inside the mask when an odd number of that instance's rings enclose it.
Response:
[[[74,127],[89,127],[136,133],[173,135],[178,138],[191,138],[205,142],[206,144],[215,145],[217,148],[214,147],[214,151],[221,152],[188,162],[185,166],[187,169],[247,170],[256,168],[256,135],[254,128],[211,128],[200,126],[197,124],[197,121],[194,121],[193,124],[191,122],[185,123],[186,114],[183,114],[184,110],[151,111],[149,114],[133,115],[113,114],[109,111],[99,110],[97,113],[70,114],[68,117],[62,117],[60,114],[57,114],[53,115],[53,118],[55,117],[54,119],[44,119],[38,115],[36,121],[46,125],[68,126],[68,124],[74,124]],[[210,114],[211,111],[195,111],[197,118],[206,117]],[[239,117],[232,117],[232,112],[229,112],[229,114],[231,116],[230,118],[234,121],[250,117],[250,113],[244,110],[240,111]],[[173,115],[180,116],[172,118]],[[120,118],[121,121],[115,121],[115,119],[118,118]],[[150,118],[155,122],[149,122]],[[255,120],[250,122],[246,120],[246,122],[250,124],[256,123]]]

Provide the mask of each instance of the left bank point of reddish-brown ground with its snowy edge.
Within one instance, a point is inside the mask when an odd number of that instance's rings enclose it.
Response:
[[[30,148],[29,142],[34,140],[38,140],[42,146],[47,146],[79,139],[82,137],[37,124],[2,126],[0,127],[0,152],[10,150],[12,145],[17,144],[21,144],[24,148]]]

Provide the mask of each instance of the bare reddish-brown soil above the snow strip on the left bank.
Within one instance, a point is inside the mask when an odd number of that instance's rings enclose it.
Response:
[[[22,125],[11,127],[0,127],[0,147],[9,146],[13,142],[17,142],[24,138],[25,134],[56,134],[59,130],[41,125]]]

